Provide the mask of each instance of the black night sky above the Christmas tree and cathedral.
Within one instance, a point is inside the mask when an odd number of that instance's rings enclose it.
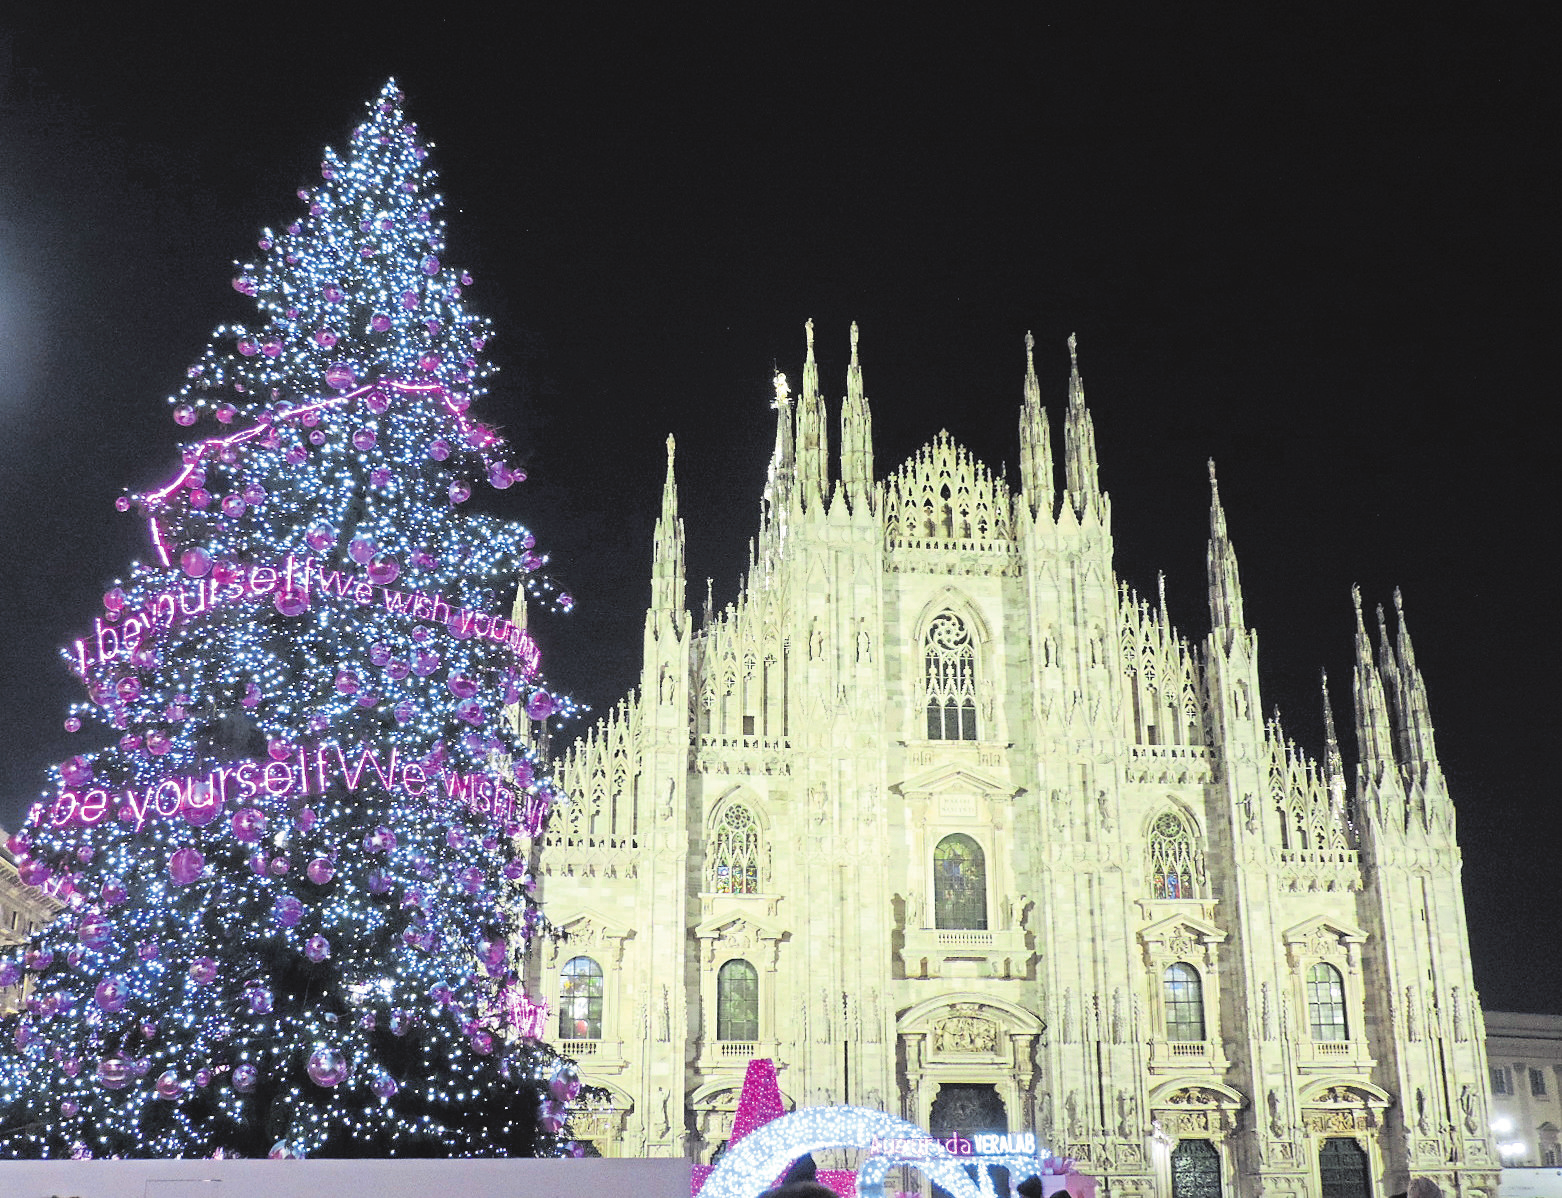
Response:
[[[167,472],[164,397],[247,314],[231,261],[395,75],[501,331],[506,501],[580,597],[555,679],[598,709],[636,679],[667,433],[690,598],[734,597],[804,319],[833,405],[861,323],[881,473],[940,426],[1012,470],[1022,337],[1056,431],[1076,330],[1120,575],[1165,570],[1203,636],[1214,456],[1265,703],[1309,748],[1320,665],[1350,709],[1351,583],[1404,589],[1482,997],[1562,1009],[1550,6],[28,8],[0,19],[0,822],[77,748],[56,647],[144,551],[112,500]]]

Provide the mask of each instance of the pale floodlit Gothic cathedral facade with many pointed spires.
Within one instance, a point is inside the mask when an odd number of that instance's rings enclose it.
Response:
[[[1373,645],[1356,598],[1348,781],[1332,717],[1317,762],[1262,714],[1214,464],[1190,640],[1117,581],[1076,361],[1057,489],[1026,337],[1015,494],[947,433],[875,476],[856,326],[831,470],[808,342],[740,597],[687,609],[669,439],[640,686],[561,761],[537,984],[611,1095],[578,1132],[709,1161],[762,1056],[1125,1198],[1493,1195],[1403,612]]]

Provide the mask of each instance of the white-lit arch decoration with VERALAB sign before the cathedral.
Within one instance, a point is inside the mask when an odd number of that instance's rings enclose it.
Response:
[[[954,1156],[915,1123],[862,1106],[811,1106],[754,1128],[722,1156],[706,1178],[700,1198],[754,1198],[804,1153],[825,1148],[873,1148],[895,1142],[906,1151],[875,1153],[858,1168],[858,1198],[883,1198],[884,1176],[897,1165],[912,1165],[954,1198],[993,1198],[993,1168],[1009,1176],[1042,1173],[1045,1154]],[[978,1165],[976,1181],[965,1171]]]

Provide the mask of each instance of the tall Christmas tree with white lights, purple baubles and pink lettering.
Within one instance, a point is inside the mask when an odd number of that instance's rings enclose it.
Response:
[[[472,511],[523,475],[423,159],[390,83],[170,397],[205,436],[119,501],[148,559],[67,650],[100,747],[11,845],[66,914],[0,957],[0,1156],[567,1150],[519,978],[567,704],[503,597],[570,600]]]

